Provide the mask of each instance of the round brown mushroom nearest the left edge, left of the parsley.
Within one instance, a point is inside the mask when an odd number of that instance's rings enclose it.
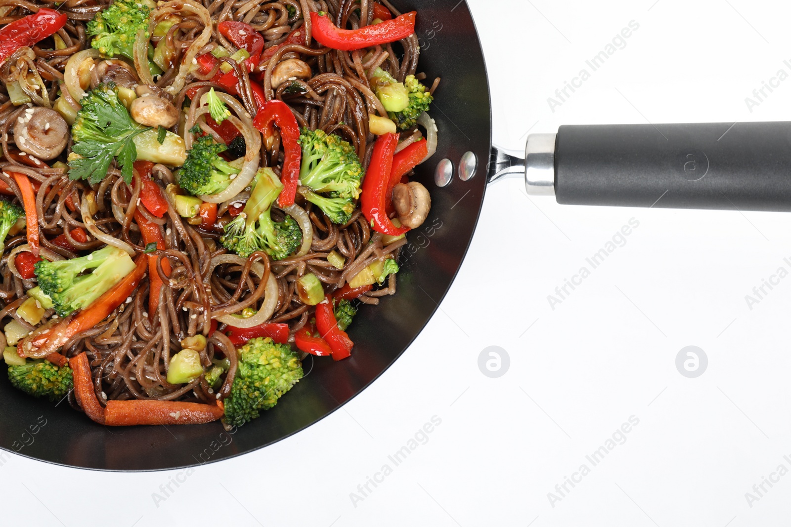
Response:
[[[66,148],[69,126],[55,110],[33,107],[13,124],[13,141],[22,152],[51,160]]]

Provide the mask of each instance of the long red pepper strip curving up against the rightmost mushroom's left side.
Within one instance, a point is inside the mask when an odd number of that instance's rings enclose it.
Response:
[[[393,152],[398,145],[398,134],[380,135],[373,145],[371,163],[362,180],[360,205],[365,219],[376,232],[400,236],[409,231],[407,227],[395,227],[388,217],[388,186],[393,164]]]

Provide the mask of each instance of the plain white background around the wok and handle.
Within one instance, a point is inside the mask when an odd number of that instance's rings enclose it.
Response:
[[[787,4],[653,2],[471,0],[495,142],[524,148],[531,127],[561,124],[791,119],[791,79],[753,112],[744,101],[779,69],[791,73]],[[632,20],[626,47],[553,113],[547,97]],[[490,186],[441,311],[343,409],[189,475],[13,457],[0,468],[3,523],[787,525],[791,475],[752,506],[745,493],[778,465],[791,469],[791,278],[752,310],[744,297],[791,270],[789,216],[574,208],[523,190]],[[639,227],[626,245],[553,311],[547,295],[631,218]],[[510,356],[500,378],[479,371],[490,345]],[[687,345],[708,356],[698,378],[676,370]],[[441,425],[428,442],[353,503],[432,416]],[[639,424],[626,442],[592,467],[585,456],[630,416]],[[591,472],[553,507],[547,493],[583,463]],[[155,503],[176,477],[186,482]]]

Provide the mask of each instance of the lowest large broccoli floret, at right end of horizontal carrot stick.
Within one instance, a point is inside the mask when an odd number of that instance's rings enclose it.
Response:
[[[231,394],[225,399],[225,423],[237,427],[276,405],[278,398],[303,375],[302,365],[291,348],[274,344],[271,338],[251,339],[238,352],[237,375]]]

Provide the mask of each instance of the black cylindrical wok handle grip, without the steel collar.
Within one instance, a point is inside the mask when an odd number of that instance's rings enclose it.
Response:
[[[791,210],[791,122],[561,126],[567,205]]]

